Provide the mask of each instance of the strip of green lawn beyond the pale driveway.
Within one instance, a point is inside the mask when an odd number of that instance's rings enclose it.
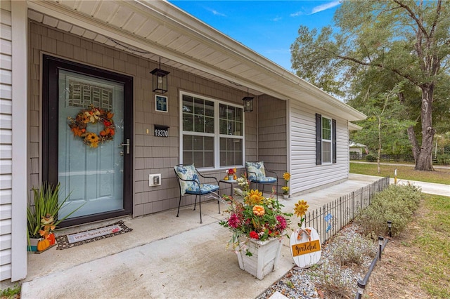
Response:
[[[380,173],[376,163],[360,164],[350,162],[350,173],[364,175],[378,175],[385,177],[389,175],[394,178],[397,168],[397,180],[418,180],[420,182],[437,182],[450,185],[450,169],[436,168],[435,171],[415,171],[411,166],[380,165]]]

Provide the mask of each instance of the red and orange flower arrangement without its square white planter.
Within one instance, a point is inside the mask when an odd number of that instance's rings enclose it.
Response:
[[[274,194],[264,197],[259,190],[250,190],[245,175],[237,182],[241,189],[235,188],[234,197],[224,197],[229,204],[225,213],[229,216],[219,222],[232,232],[228,246],[232,245],[233,250],[238,251],[245,248],[249,239],[266,241],[284,237],[293,214],[281,211],[283,205],[274,198]],[[251,255],[248,251],[246,254]]]

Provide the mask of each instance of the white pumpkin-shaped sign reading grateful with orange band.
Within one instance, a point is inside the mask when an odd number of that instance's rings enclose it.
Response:
[[[319,262],[322,248],[319,234],[312,227],[300,228],[290,236],[290,253],[295,265],[311,267]]]

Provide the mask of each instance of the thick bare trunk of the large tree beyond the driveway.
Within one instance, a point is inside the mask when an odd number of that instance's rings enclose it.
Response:
[[[435,128],[432,127],[432,100],[434,84],[422,86],[422,144],[416,157],[416,171],[433,171],[432,150]]]

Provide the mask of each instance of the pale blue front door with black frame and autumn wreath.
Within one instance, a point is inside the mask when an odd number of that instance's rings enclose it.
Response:
[[[132,213],[133,79],[44,55],[42,178],[60,183],[60,227]]]

